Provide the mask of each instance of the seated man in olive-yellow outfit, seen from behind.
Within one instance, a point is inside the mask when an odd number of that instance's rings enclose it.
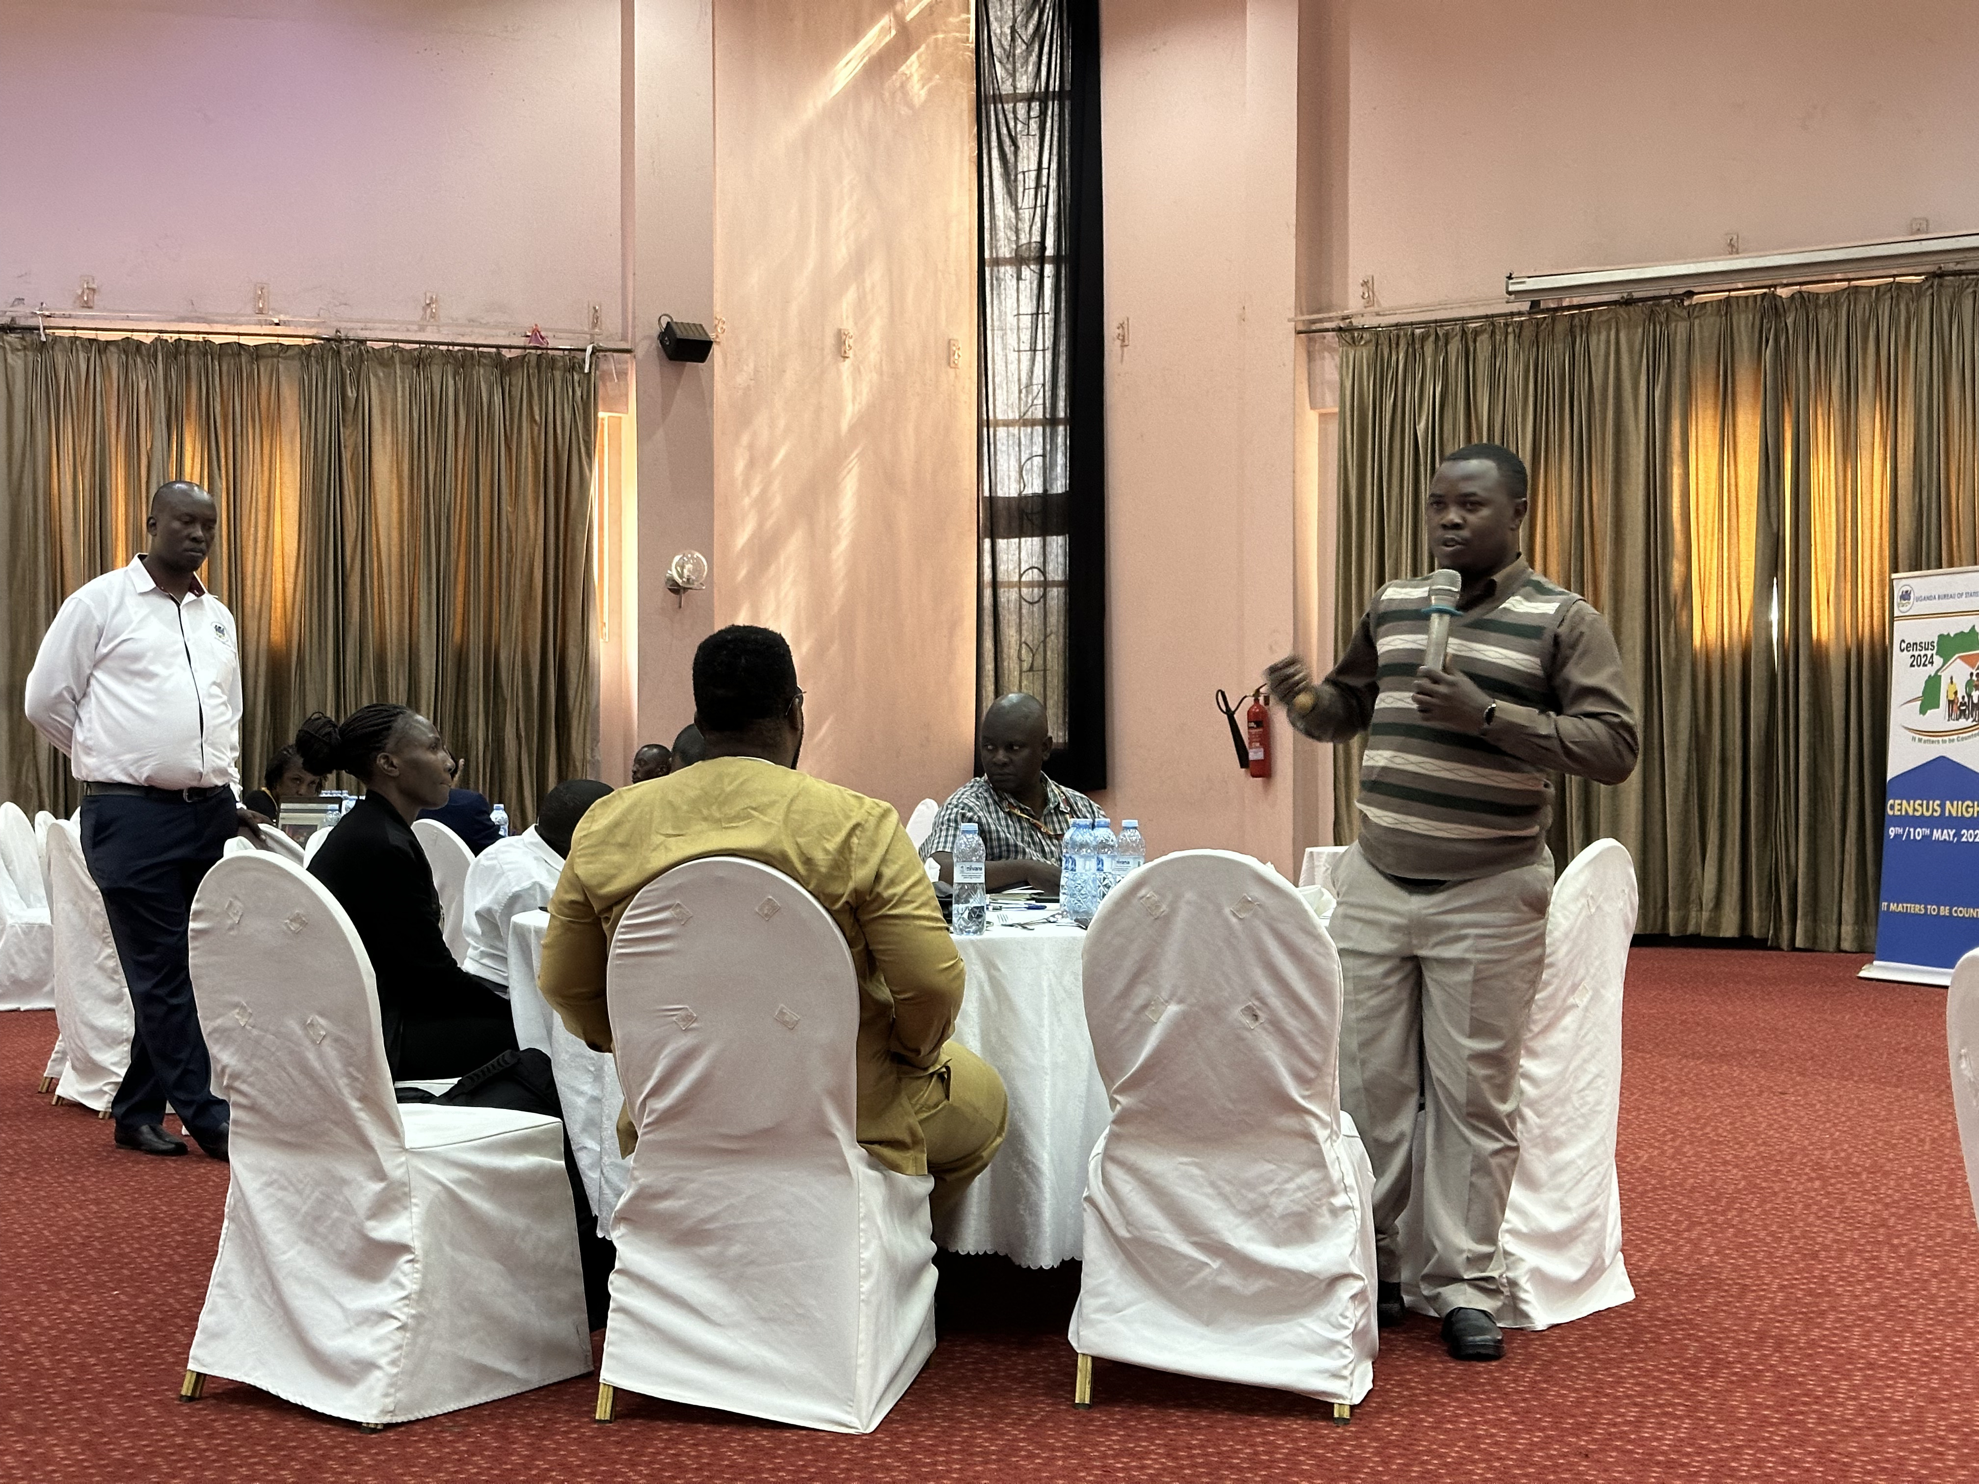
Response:
[[[815,896],[859,972],[859,1142],[902,1175],[934,1175],[936,1219],[1003,1142],[1003,1080],[950,1041],[962,960],[893,805],[807,778],[803,693],[780,633],[734,625],[695,651],[707,760],[590,807],[570,843],[542,940],[542,995],[612,1051],[606,956],[653,877],[707,855],[776,867]],[[631,1150],[629,1120],[619,1142]]]

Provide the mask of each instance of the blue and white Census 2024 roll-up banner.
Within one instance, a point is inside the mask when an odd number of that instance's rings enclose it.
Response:
[[[1979,568],[1890,578],[1890,766],[1876,962],[1951,983],[1979,948]]]

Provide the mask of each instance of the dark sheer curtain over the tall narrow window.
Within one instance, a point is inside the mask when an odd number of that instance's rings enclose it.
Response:
[[[1061,784],[1106,786],[1098,0],[976,12],[978,700],[1045,702]]]

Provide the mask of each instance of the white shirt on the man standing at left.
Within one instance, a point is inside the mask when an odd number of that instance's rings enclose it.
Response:
[[[142,558],[85,582],[42,637],[28,720],[83,782],[239,791],[234,615],[196,578],[172,602]]]

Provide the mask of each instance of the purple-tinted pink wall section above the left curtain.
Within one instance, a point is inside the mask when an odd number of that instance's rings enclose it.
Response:
[[[619,330],[617,0],[0,0],[0,307]]]

